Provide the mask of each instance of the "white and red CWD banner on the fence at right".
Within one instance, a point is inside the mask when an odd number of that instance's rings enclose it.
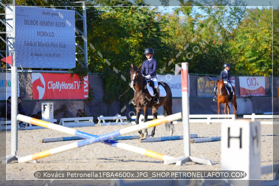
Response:
[[[265,95],[265,78],[242,76],[239,77],[240,97]]]

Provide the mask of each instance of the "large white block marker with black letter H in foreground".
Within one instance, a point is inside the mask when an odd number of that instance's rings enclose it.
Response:
[[[243,179],[254,179],[253,184],[260,185],[260,122],[237,119],[225,122],[221,126],[221,165],[222,170],[244,171],[247,175]],[[229,180],[231,184],[234,180]]]

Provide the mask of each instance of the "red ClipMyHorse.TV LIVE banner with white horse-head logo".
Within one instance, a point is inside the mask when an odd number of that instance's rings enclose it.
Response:
[[[81,83],[77,74],[32,73],[33,100],[88,99],[88,75]]]

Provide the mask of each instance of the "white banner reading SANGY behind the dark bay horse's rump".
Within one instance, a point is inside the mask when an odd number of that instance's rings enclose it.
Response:
[[[158,75],[157,74],[158,81],[166,82],[171,89],[172,97],[181,97],[181,74],[178,74],[177,76],[172,74],[166,74],[166,75]],[[190,92],[190,90],[189,90]]]

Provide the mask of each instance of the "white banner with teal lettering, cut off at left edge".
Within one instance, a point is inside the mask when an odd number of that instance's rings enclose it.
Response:
[[[0,100],[7,100],[11,96],[11,73],[0,73]],[[19,82],[17,77],[17,82]],[[17,84],[19,96],[19,83]]]

